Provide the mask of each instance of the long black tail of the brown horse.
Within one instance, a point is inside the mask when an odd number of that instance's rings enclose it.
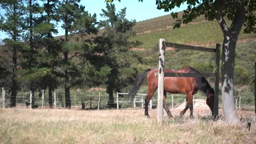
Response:
[[[135,95],[137,94],[139,88],[141,88],[142,83],[143,83],[143,80],[144,80],[144,78],[145,78],[144,75],[146,75],[146,73],[147,73],[148,71],[150,71],[150,70],[151,70],[150,68],[149,68],[149,69],[146,69],[146,70],[144,70],[144,71],[139,75],[139,77],[138,77],[138,79],[137,79],[135,85],[132,87],[131,91],[130,91],[129,94],[128,94],[128,97],[130,97],[131,100],[133,100],[133,98],[134,98]]]

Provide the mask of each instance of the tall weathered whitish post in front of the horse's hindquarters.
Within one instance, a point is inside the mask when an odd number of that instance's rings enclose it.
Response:
[[[164,106],[164,70],[165,70],[165,39],[159,40],[159,69],[158,69],[158,124],[162,125]]]

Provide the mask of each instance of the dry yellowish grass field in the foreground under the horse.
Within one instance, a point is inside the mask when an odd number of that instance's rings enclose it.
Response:
[[[0,109],[0,143],[256,143],[253,112],[227,124],[211,121],[208,109],[194,109],[194,119],[171,111],[159,127],[156,110],[146,118],[144,110]]]

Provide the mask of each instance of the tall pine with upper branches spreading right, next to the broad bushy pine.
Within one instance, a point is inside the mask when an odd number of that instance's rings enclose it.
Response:
[[[62,71],[65,79],[65,98],[66,98],[66,108],[71,108],[70,99],[70,88],[71,88],[71,75],[75,77],[77,68],[75,68],[75,63],[72,59],[77,56],[74,52],[72,56],[69,54],[75,51],[78,47],[71,44],[71,38],[74,34],[90,34],[96,33],[96,15],[90,15],[88,11],[84,10],[83,5],[79,5],[80,1],[66,0],[60,3],[58,14],[60,15],[60,20],[63,22],[62,28],[65,30],[65,39],[62,41],[61,51],[63,53],[62,59]]]

